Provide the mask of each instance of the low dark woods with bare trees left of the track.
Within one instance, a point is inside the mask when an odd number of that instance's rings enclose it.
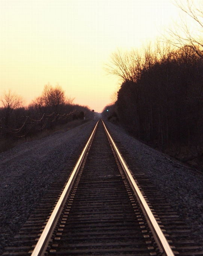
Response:
[[[65,91],[59,85],[44,86],[41,96],[24,106],[23,99],[17,93],[9,90],[1,98],[0,137],[8,144],[29,136],[36,136],[45,130],[53,130],[56,126],[65,125],[72,120],[93,118],[93,113],[87,106],[73,103],[74,98],[66,97]],[[4,150],[1,148],[0,151]]]

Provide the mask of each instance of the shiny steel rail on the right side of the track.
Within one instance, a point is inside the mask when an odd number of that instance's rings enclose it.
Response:
[[[102,120],[102,122],[103,122],[103,120]],[[156,241],[156,244],[159,247],[159,250],[161,251],[162,255],[164,255],[164,256],[174,256],[174,253],[171,250],[170,245],[168,244],[163,232],[161,231],[158,223],[156,222],[156,219],[154,218],[153,213],[151,212],[147,202],[145,201],[143,195],[141,194],[140,189],[138,188],[137,184],[135,183],[134,178],[132,177],[131,173],[129,172],[129,169],[126,166],[122,156],[120,155],[120,152],[116,147],[116,144],[114,143],[113,139],[111,138],[110,134],[108,133],[108,130],[107,130],[104,122],[103,122],[103,125],[104,125],[104,129],[107,133],[107,136],[113,145],[114,151],[116,152],[119,162],[128,178],[128,181],[131,184],[131,187],[132,187],[132,189],[135,193],[135,196],[138,200],[138,203],[140,204],[140,207],[144,213],[144,216],[145,216],[146,221],[150,227],[150,230],[152,231],[153,237]]]

